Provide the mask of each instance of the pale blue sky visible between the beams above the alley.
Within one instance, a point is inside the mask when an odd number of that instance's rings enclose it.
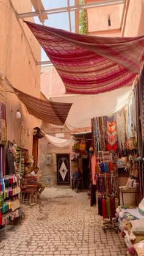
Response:
[[[45,10],[66,7],[67,0],[41,0],[43,3]],[[74,0],[70,0],[70,5],[74,5]],[[41,24],[38,17],[34,18],[35,23]],[[56,27],[58,29],[65,29],[70,31],[69,29],[69,21],[68,21],[68,12],[51,14],[48,16],[48,20],[45,21],[45,26]],[[74,32],[74,12],[71,12],[71,28]],[[45,51],[41,48],[41,61],[49,60],[48,56],[46,56]]]

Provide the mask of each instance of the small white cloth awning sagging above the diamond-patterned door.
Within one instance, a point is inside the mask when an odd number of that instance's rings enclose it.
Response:
[[[60,139],[59,137],[54,137],[48,134],[45,134],[45,137],[48,139],[48,142],[51,142],[51,144],[56,147],[67,147],[70,143],[74,142],[73,137],[71,137],[71,139]]]

